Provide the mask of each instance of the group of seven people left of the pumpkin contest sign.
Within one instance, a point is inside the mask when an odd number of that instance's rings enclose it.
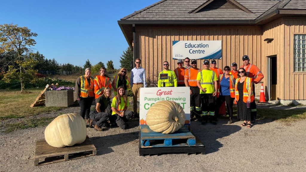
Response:
[[[91,77],[91,69],[85,69],[85,74],[76,80],[76,99],[80,104],[80,116],[90,128],[104,131],[111,126],[118,125],[127,129],[126,123],[130,118],[139,118],[137,114],[137,96],[139,88],[146,86],[145,70],[140,67],[140,59],[135,61],[136,67],[132,69],[131,80],[126,75],[127,70],[121,68],[113,81],[106,74],[106,68],[99,70],[99,75]],[[127,88],[132,87],[133,111],[127,110],[129,99]],[[111,88],[114,89],[115,97],[110,102]],[[90,111],[91,104],[95,99],[95,110]]]

